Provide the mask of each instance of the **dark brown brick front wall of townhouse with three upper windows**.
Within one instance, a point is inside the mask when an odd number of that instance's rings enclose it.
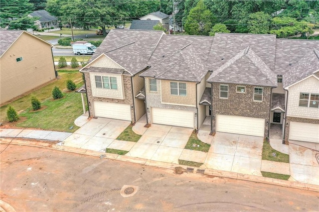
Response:
[[[228,85],[228,99],[219,99],[219,85]],[[268,137],[271,87],[263,87],[263,102],[253,102],[254,87],[246,85],[245,94],[236,93],[236,84],[213,83],[212,84],[212,131],[216,132],[216,115],[237,115],[254,118],[265,118],[264,136]],[[261,86],[256,86],[261,87]]]

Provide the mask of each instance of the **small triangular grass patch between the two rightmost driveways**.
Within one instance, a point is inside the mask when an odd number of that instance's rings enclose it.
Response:
[[[289,163],[289,155],[281,153],[270,146],[269,141],[264,140],[262,160]]]

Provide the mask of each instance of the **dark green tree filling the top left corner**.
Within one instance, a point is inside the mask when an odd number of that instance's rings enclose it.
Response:
[[[35,29],[36,18],[27,16],[33,10],[33,4],[29,0],[1,0],[0,26],[8,26],[9,29]]]

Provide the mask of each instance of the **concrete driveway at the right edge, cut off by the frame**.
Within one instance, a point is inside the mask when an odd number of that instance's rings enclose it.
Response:
[[[319,185],[319,143],[289,141],[289,162],[294,180]]]

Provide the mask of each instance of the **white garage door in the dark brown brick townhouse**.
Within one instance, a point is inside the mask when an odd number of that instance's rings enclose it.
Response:
[[[264,137],[265,119],[217,115],[216,131]]]

